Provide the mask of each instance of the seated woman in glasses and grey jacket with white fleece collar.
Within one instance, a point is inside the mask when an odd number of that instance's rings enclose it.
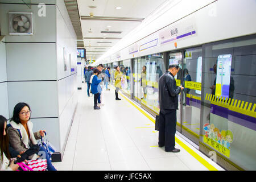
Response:
[[[27,151],[33,144],[37,144],[36,140],[44,137],[45,130],[40,130],[33,133],[33,123],[30,121],[31,109],[26,103],[20,102],[14,107],[13,118],[10,120],[10,127],[7,129],[9,135],[10,145],[18,152]],[[56,171],[52,166],[51,160],[44,147],[40,147],[39,151],[43,151],[45,155],[43,159],[47,160],[48,171]],[[29,159],[35,160],[38,154],[31,155]]]

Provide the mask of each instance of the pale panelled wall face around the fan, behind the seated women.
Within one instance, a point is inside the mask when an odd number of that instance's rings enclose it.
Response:
[[[48,2],[48,1],[42,1]],[[18,102],[31,106],[31,121],[35,129],[49,128],[48,139],[60,151],[59,127],[52,122],[58,119],[56,73],[56,6],[46,5],[46,17],[38,16],[38,5],[31,9],[23,4],[0,4],[1,32],[6,35],[6,69],[9,118]],[[8,13],[33,13],[34,35],[9,35]],[[49,125],[49,126],[48,126]],[[36,131],[34,129],[34,131]]]

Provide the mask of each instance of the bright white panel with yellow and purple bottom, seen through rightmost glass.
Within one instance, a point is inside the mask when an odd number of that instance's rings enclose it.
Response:
[[[229,97],[232,55],[219,55],[217,62],[216,96]]]

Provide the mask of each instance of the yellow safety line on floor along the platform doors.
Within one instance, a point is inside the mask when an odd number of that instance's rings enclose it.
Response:
[[[150,119],[152,122],[155,123],[155,119],[151,118],[147,113],[145,113],[141,108],[139,108],[137,105],[135,105],[133,102],[131,102],[128,98],[123,96],[123,94],[120,93],[120,95],[125,98],[126,101],[130,102],[131,105],[136,107],[139,111],[141,111],[142,114],[144,114],[148,119]],[[179,143],[179,145],[184,148],[190,155],[192,155],[196,160],[198,160],[201,164],[203,164],[206,168],[208,168],[210,171],[218,171],[215,167],[213,167],[210,163],[207,162],[207,160],[203,159],[200,155],[196,154],[191,148],[189,148],[185,143],[181,142],[177,137],[175,137],[175,141]],[[156,147],[156,146],[151,146]]]

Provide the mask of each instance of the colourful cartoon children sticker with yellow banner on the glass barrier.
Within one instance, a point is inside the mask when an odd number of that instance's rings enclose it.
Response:
[[[232,131],[220,131],[213,123],[205,123],[204,131],[204,143],[229,158],[231,150],[230,143],[233,142]]]

